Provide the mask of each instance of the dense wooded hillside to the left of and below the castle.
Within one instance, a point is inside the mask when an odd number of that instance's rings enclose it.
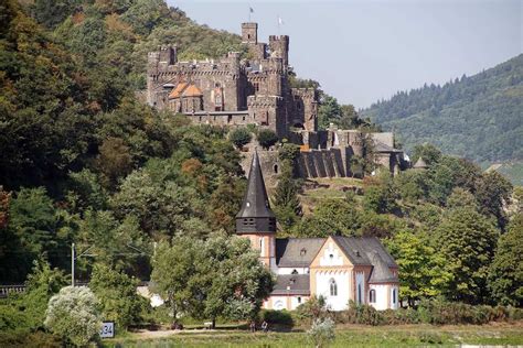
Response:
[[[225,130],[159,113],[135,90],[159,43],[215,56],[239,39],[162,1],[53,3],[1,3],[2,282],[24,281],[38,258],[68,269],[72,242],[132,269],[128,244],[231,231],[244,180]],[[90,263],[78,260],[79,276]],[[148,274],[141,263],[128,271]]]

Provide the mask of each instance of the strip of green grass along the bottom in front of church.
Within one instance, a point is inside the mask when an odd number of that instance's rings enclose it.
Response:
[[[523,323],[483,326],[339,326],[330,347],[522,346]],[[104,341],[105,347],[313,347],[305,331],[141,331]]]

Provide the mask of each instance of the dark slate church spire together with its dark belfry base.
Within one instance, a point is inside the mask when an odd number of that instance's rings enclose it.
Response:
[[[257,151],[253,154],[242,208],[236,215],[236,232],[276,232],[276,216],[270,210]]]

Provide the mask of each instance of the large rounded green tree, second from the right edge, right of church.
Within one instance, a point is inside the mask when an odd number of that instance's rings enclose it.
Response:
[[[492,222],[469,207],[450,210],[434,233],[433,246],[446,260],[444,271],[453,274],[445,285],[449,300],[483,303],[487,275],[498,231]]]

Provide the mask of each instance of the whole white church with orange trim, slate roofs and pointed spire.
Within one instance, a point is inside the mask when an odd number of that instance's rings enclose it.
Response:
[[[348,308],[350,301],[380,311],[398,307],[398,267],[377,238],[276,238],[276,216],[256,152],[236,233],[249,239],[277,276],[264,308],[296,309],[314,295],[322,295],[331,311]]]

